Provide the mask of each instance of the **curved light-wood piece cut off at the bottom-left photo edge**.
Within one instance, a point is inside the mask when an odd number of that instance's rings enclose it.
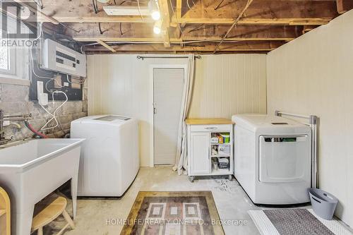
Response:
[[[10,198],[4,188],[0,187],[0,235],[11,235]]]

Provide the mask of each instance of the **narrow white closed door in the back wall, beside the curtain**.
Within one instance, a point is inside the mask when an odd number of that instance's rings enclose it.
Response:
[[[174,164],[184,68],[153,68],[155,164]]]

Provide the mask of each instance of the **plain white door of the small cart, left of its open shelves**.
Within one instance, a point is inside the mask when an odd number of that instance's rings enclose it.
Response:
[[[210,174],[210,133],[190,133],[190,174]]]

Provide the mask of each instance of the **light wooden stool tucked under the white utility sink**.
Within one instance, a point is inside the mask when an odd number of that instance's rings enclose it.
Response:
[[[64,228],[62,228],[57,235],[62,234],[62,232],[70,225],[71,229],[75,229],[75,224],[66,212],[66,198],[59,197],[56,198],[52,203],[50,203],[47,207],[44,208],[41,212],[36,215],[32,220],[32,232],[38,230],[37,235],[43,235],[43,227],[54,219],[59,217],[59,215],[63,215],[67,224]]]

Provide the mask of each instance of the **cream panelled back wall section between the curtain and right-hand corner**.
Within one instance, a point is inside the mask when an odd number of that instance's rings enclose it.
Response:
[[[207,55],[196,61],[189,117],[231,118],[266,112],[266,64],[262,54]]]

